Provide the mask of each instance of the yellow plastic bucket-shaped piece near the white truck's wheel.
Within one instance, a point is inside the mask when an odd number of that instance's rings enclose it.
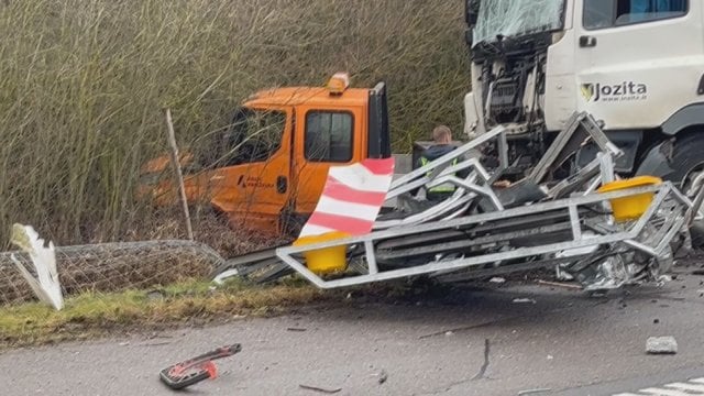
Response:
[[[600,187],[598,193],[612,193],[635,187],[659,185],[662,179],[654,176],[638,176],[624,180],[607,183]],[[618,222],[637,220],[648,210],[652,202],[653,193],[638,194],[630,197],[610,199],[614,219]]]

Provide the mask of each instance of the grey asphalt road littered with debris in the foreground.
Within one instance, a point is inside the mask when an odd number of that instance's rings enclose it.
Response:
[[[449,298],[352,298],[273,319],[9,351],[0,355],[0,394],[173,395],[161,369],[238,342],[241,353],[218,361],[220,376],[186,394],[326,395],[304,385],[334,395],[641,395],[704,377],[704,276],[691,270],[680,267],[663,287],[606,299],[490,285]],[[679,353],[646,354],[651,336],[675,337]]]

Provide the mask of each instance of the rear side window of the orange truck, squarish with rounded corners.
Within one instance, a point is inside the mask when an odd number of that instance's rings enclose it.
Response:
[[[306,114],[306,160],[333,163],[352,160],[352,114],[348,112],[309,111]]]

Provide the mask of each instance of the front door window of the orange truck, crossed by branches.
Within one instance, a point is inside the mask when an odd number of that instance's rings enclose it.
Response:
[[[285,128],[283,111],[240,110],[222,136],[221,163],[233,166],[268,160],[280,147]]]

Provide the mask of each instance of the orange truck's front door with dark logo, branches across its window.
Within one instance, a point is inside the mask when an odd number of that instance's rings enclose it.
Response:
[[[232,223],[277,231],[290,197],[293,111],[243,108],[222,136],[210,173],[212,205]]]

